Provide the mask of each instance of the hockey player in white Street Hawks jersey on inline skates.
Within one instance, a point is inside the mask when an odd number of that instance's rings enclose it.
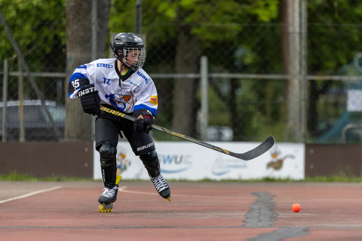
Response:
[[[83,111],[96,118],[96,150],[100,154],[104,192],[98,198],[99,211],[111,211],[117,199],[116,154],[121,130],[133,152],[147,169],[161,197],[171,201],[171,190],[163,178],[150,130],[158,101],[155,85],[142,69],[146,51],[142,39],[133,33],[119,33],[113,40],[112,59],[98,59],[76,68],[69,79],[68,96],[80,98]],[[104,106],[136,117],[132,122],[101,111]]]

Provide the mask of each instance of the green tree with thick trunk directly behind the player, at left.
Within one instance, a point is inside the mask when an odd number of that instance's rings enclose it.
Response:
[[[71,2],[71,4],[75,4],[75,1]],[[3,12],[14,39],[32,72],[66,72],[67,70],[68,73],[72,73],[77,66],[92,61],[90,59],[92,1],[82,2],[83,5],[69,7],[68,14],[66,14],[65,0],[0,0],[1,12]],[[98,0],[97,57],[99,58],[105,57],[109,8],[110,0]],[[67,36],[66,22],[68,23]],[[0,57],[10,60],[9,71],[17,71],[15,51],[2,26],[0,29]],[[86,34],[84,34],[85,32]],[[88,59],[87,55],[89,55]],[[67,66],[66,60],[68,60]],[[58,79],[34,78],[41,91],[45,93],[46,99],[59,100],[54,95],[57,92],[55,83]],[[65,82],[62,80],[65,92],[68,90],[68,79],[66,78]],[[10,93],[8,96],[10,99],[17,98],[17,82],[13,80],[16,79],[9,78]],[[29,84],[25,85],[25,92],[29,99],[36,98]],[[90,116],[81,111],[80,103],[77,100],[70,101],[67,93],[64,94],[61,100],[62,102],[65,100],[67,107],[66,140],[90,141],[92,133]],[[77,126],[81,126],[83,129],[76,130]]]

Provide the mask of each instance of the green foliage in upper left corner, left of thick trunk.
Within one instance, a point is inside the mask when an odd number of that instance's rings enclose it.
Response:
[[[65,63],[66,14],[64,0],[0,0],[0,8],[32,71],[48,71],[51,61],[57,62],[58,66],[58,61]],[[55,56],[60,58],[47,58],[56,51],[59,52]],[[15,51],[1,26],[0,58],[9,58],[14,54]],[[64,65],[63,68],[58,67],[58,71],[64,70],[64,67]]]

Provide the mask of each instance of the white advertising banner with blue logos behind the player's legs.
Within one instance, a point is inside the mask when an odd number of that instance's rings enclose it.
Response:
[[[266,153],[244,161],[190,142],[155,142],[161,172],[167,180],[250,180],[264,177],[304,179],[303,143],[275,143]],[[260,143],[210,142],[241,153]],[[94,180],[101,180],[99,153],[94,150]],[[117,146],[117,173],[122,179],[150,180],[146,168],[128,142]]]

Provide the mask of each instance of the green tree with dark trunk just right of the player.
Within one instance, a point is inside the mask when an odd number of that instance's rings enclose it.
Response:
[[[134,19],[134,4],[126,0],[113,1],[113,11],[117,16],[111,17],[112,31],[134,29],[134,22],[124,21]],[[231,69],[230,65],[233,67],[233,64],[230,63],[230,59],[233,59],[235,49],[230,46],[237,45],[238,34],[243,30],[239,23],[245,19],[249,20],[250,16],[268,22],[278,13],[277,0],[244,3],[233,0],[146,0],[142,4],[143,33],[147,35],[147,46],[151,46],[151,51],[148,52],[152,53],[149,60],[152,63],[148,62],[146,68],[162,71],[157,65],[163,65],[169,66],[164,68],[166,71],[176,73],[198,73],[199,59],[206,49],[211,49],[208,54],[212,56],[211,60],[218,59],[219,54],[228,59],[221,63],[221,66]],[[154,48],[157,48],[157,51],[153,50]],[[167,54],[162,54],[164,52]],[[210,66],[216,67],[219,64],[219,61],[211,62]],[[186,135],[196,134],[195,123],[199,106],[195,96],[197,86],[196,79],[179,78],[173,81],[172,129]],[[235,98],[224,100],[228,106],[236,110]],[[237,111],[233,114],[237,114]],[[232,118],[237,119],[235,116]],[[233,127],[239,128],[237,125],[236,123]]]

